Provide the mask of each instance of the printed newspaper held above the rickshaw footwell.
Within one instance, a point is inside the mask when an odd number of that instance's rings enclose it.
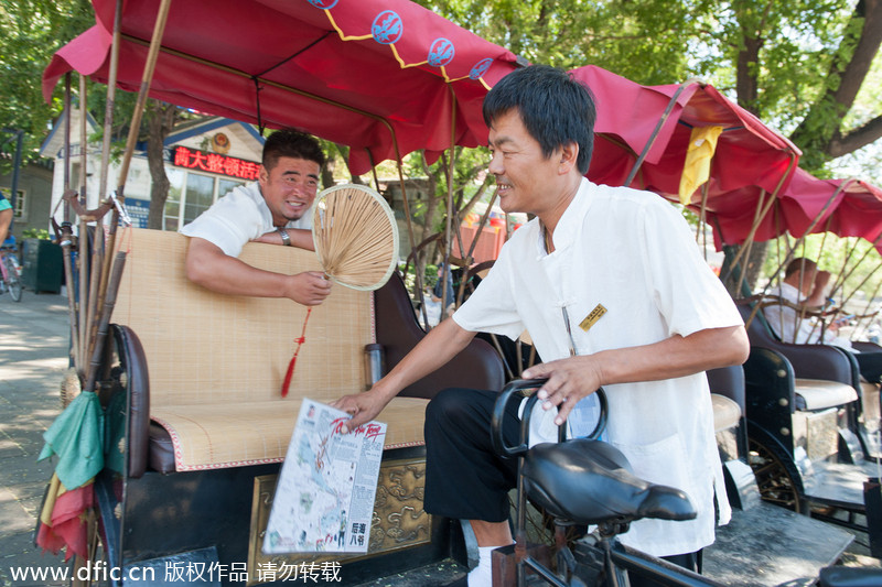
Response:
[[[386,424],[348,434],[349,415],[304,399],[272,500],[265,554],[364,553]]]

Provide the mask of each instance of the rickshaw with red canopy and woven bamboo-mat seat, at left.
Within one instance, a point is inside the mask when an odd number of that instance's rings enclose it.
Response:
[[[47,97],[62,75],[76,69],[106,83],[110,99],[116,88],[140,88],[139,108],[149,93],[261,130],[306,129],[348,145],[348,165],[355,174],[391,159],[400,176],[401,157],[413,150],[426,150],[431,160],[453,145],[485,142],[483,96],[518,66],[510,52],[407,1],[344,7],[320,0],[298,4],[163,0],[121,7],[96,0],[94,6],[96,25],[63,47],[47,67]],[[203,24],[194,29],[194,22]],[[194,34],[195,30],[205,35]],[[136,119],[130,148],[138,127]],[[107,153],[103,156],[107,161]],[[313,313],[310,330],[305,309],[291,309],[290,303],[255,305],[256,301],[219,300],[198,291],[183,278],[182,237],[131,228],[117,235],[120,218],[126,218],[127,169],[128,159],[111,198],[105,198],[103,189],[99,195],[80,194],[79,200],[65,198],[80,218],[78,239],[69,216],[62,222],[65,270],[79,283],[76,303],[71,296],[76,370],[72,388],[82,387],[78,394],[78,389],[69,390],[75,399],[65,413],[77,402],[86,414],[106,414],[106,435],[93,459],[104,464],[90,471],[94,477],[85,483],[94,482],[95,506],[84,512],[89,517],[87,548],[77,552],[76,568],[86,570],[74,576],[85,583],[109,579],[126,585],[147,578],[148,572],[179,576],[175,573],[184,567],[202,565],[224,574],[190,576],[191,583],[196,578],[281,583],[291,578],[292,569],[325,573],[330,562],[336,570],[343,561],[343,583],[355,584],[449,557],[458,545],[450,537],[456,529],[421,508],[422,411],[426,398],[452,384],[501,389],[504,378],[496,352],[475,341],[450,367],[404,393],[398,424],[387,433],[377,490],[377,499],[387,506],[375,512],[366,555],[263,555],[260,543],[284,438],[290,437],[297,415],[293,406],[304,394],[332,401],[365,389],[377,377],[366,365],[377,366],[380,354],[383,366],[391,368],[424,333],[397,275],[375,293],[336,289],[326,307]],[[106,222],[103,215],[112,219]],[[405,216],[409,224],[409,210]],[[106,248],[104,239],[92,237],[89,221],[108,225]],[[411,246],[412,233],[408,231]],[[247,246],[244,258],[277,271],[316,269],[311,254],[268,254],[260,249]],[[76,265],[72,250],[77,253]],[[164,293],[159,307],[158,291]],[[217,314],[224,318],[213,325],[211,316]],[[236,324],[246,327],[237,330]],[[287,363],[283,355],[290,358],[290,350],[279,352],[266,341],[249,341],[243,333],[257,328],[267,340],[279,336],[290,343],[287,333],[301,326],[305,343],[302,352],[298,347],[292,391],[281,401],[283,369],[277,367]],[[230,336],[235,345],[208,348],[212,339]],[[182,355],[193,352],[193,360],[179,365],[164,355],[179,344]],[[244,363],[255,352],[275,355],[263,372],[247,372]],[[229,369],[219,374],[200,367],[208,363]],[[327,372],[321,374],[322,369]],[[194,380],[202,382],[192,387]],[[269,402],[239,401],[261,388],[273,390],[276,396]],[[193,392],[191,399],[202,394],[207,401],[182,405],[185,390]],[[80,401],[86,399],[88,403]],[[279,430],[273,432],[277,421]],[[192,433],[198,438],[194,441]],[[261,445],[258,453],[218,456],[223,446],[249,452],[255,443]],[[193,457],[190,450],[197,446],[204,454]],[[64,469],[63,461],[56,472]],[[69,548],[68,544],[68,553]],[[103,576],[89,573],[99,567],[105,569]]]

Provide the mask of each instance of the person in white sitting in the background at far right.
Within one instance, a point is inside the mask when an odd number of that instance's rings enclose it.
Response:
[[[794,259],[784,270],[777,289],[783,303],[764,307],[765,319],[784,343],[833,345],[854,354],[861,374],[878,383],[882,378],[882,351],[861,352],[853,348],[851,340],[839,336],[839,328],[848,322],[846,318],[836,319],[824,328],[815,316],[804,313],[824,307],[829,281],[830,273],[818,270],[815,261],[804,257]]]

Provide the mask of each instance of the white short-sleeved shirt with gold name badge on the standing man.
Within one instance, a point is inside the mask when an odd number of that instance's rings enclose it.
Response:
[[[456,324],[510,338],[526,329],[545,361],[570,356],[564,305],[579,355],[743,324],[679,211],[655,194],[582,180],[553,238],[547,254],[538,219],[515,231]],[[583,330],[600,306],[605,314]],[[688,522],[635,522],[622,542],[656,556],[711,544],[714,486],[721,523],[731,511],[704,373],[605,390],[606,441],[638,477],[685,490],[698,510]]]

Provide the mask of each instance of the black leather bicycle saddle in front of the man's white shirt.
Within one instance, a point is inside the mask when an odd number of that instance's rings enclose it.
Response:
[[[527,494],[552,515],[577,524],[641,518],[692,520],[689,497],[635,477],[615,447],[587,438],[538,444],[524,458]]]

